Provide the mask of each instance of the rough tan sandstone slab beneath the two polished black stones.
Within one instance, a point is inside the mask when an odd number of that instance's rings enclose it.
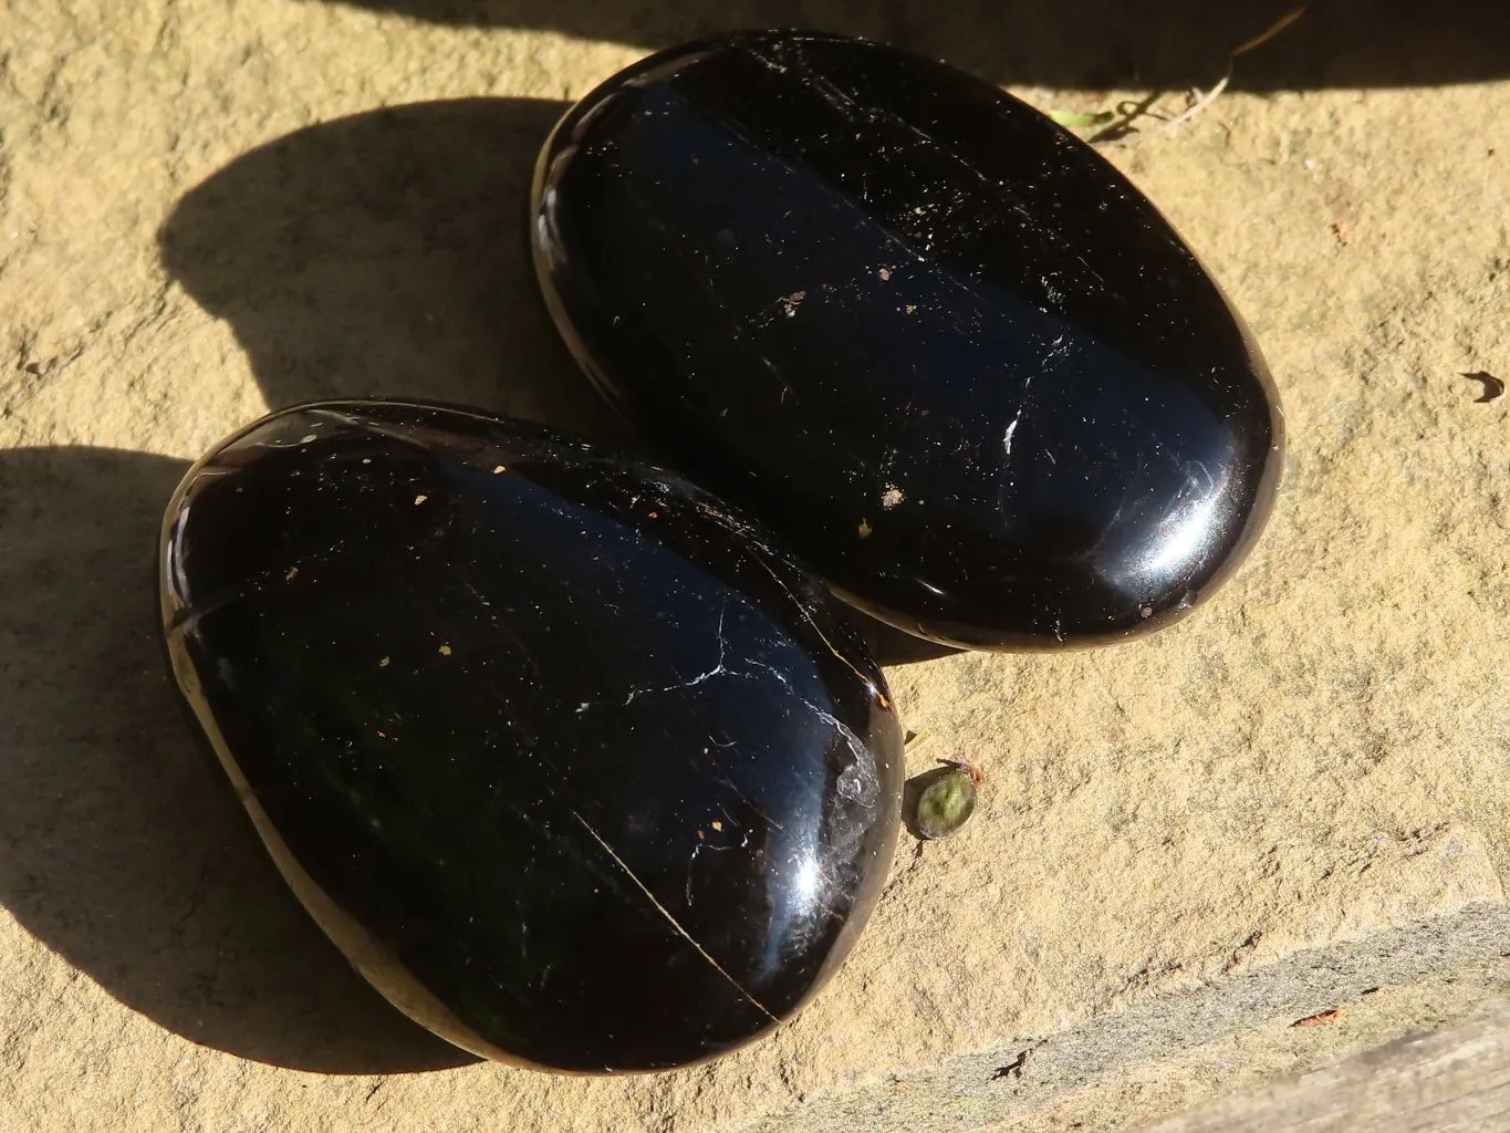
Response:
[[[0,1127],[1114,1130],[1510,994],[1510,397],[1462,376],[1510,376],[1481,5],[1315,5],[1178,134],[1108,150],[1264,346],[1274,518],[1148,641],[891,671],[911,770],[971,760],[980,807],[903,849],[770,1041],[630,1080],[465,1062],[349,973],[177,719],[153,544],[223,434],[341,393],[612,429],[512,228],[563,100],[800,21],[1095,110],[1208,86],[1284,5],[1000,8],[0,12]],[[506,101],[441,101],[479,98]]]

